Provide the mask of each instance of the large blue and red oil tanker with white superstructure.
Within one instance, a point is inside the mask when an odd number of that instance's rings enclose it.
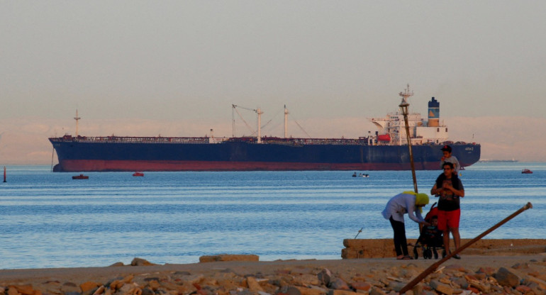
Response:
[[[260,122],[261,111],[255,111]],[[478,162],[481,146],[449,141],[439,115],[440,103],[434,97],[428,102],[428,121],[419,113],[408,114],[415,169],[440,169],[445,144],[451,145],[461,167]],[[258,123],[256,137],[64,135],[49,140],[59,160],[54,172],[411,169],[403,114],[395,111],[369,120],[377,132],[354,139],[262,138]]]

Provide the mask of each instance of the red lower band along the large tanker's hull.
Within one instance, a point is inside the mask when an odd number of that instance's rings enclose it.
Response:
[[[408,170],[400,163],[303,163],[303,162],[212,162],[212,161],[121,161],[63,160],[63,172],[82,171],[299,171],[299,170]],[[418,170],[440,169],[440,162],[416,163]]]

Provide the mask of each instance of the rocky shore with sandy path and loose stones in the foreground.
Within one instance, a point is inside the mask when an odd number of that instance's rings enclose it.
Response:
[[[539,245],[540,246],[540,245]],[[540,247],[539,247],[540,249]],[[525,248],[528,251],[528,248]],[[406,294],[546,294],[546,253],[463,255]],[[109,267],[0,270],[6,295],[357,295],[398,294],[437,260],[360,258],[258,261],[214,255],[188,265],[135,258]]]

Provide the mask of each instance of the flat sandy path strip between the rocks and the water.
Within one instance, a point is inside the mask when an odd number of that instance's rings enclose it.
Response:
[[[377,240],[377,245],[383,245]],[[375,243],[375,240],[370,240]],[[448,260],[447,265],[458,265],[474,271],[480,267],[512,267],[516,264],[527,262],[546,262],[545,240],[519,240],[518,245],[525,247],[513,247],[508,251],[506,245],[513,242],[503,241],[496,243],[481,243],[481,247],[487,249],[486,254],[478,255],[463,252],[461,260]],[[495,246],[494,244],[498,244]],[[381,246],[382,247],[382,246]],[[498,251],[495,250],[498,247]],[[532,249],[530,251],[529,249]],[[145,258],[145,257],[143,257]],[[218,272],[229,270],[240,276],[257,274],[266,276],[279,272],[293,271],[294,269],[323,269],[327,268],[333,273],[345,274],[347,277],[365,275],[369,272],[377,272],[378,269],[391,269],[404,265],[416,265],[419,269],[426,269],[438,260],[396,260],[394,257],[361,258],[340,260],[276,260],[276,261],[227,261],[227,262],[201,262],[187,265],[150,265],[150,266],[107,266],[107,267],[79,267],[79,268],[55,268],[55,269],[1,269],[0,286],[8,284],[43,284],[45,282],[72,282],[82,284],[84,282],[99,282],[106,284],[116,277],[168,277],[174,272],[189,272],[190,274],[202,274],[204,277],[213,276]],[[153,263],[153,261],[150,261]],[[114,262],[113,262],[114,263]]]

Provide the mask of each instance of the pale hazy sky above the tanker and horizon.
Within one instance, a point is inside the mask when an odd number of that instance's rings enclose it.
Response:
[[[482,159],[546,162],[545,1],[0,1],[0,165],[48,137],[352,137],[440,101]],[[238,119],[240,121],[240,119]],[[250,129],[238,122],[235,135]],[[301,126],[301,128],[300,128]]]

